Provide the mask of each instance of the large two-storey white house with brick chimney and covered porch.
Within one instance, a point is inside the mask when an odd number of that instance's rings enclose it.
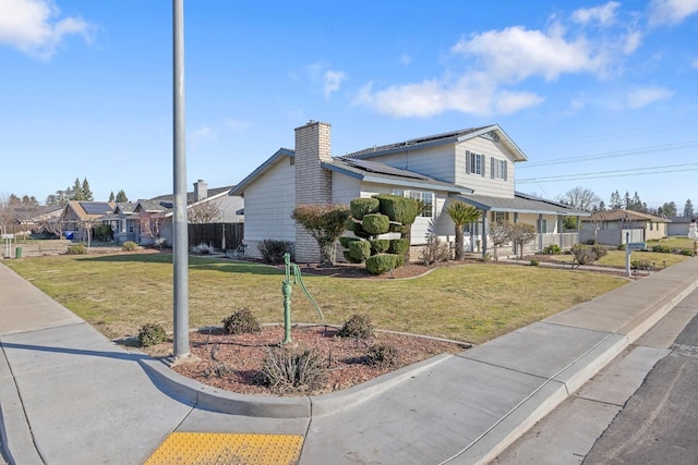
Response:
[[[230,194],[244,197],[245,254],[253,258],[261,258],[260,242],[273,238],[292,242],[297,261],[317,261],[317,244],[291,219],[293,208],[384,193],[430,207],[412,225],[412,247],[424,245],[430,234],[453,242],[455,227],[444,208],[464,201],[483,213],[466,228],[467,250],[488,254],[490,224],[503,220],[535,227],[538,236],[525,252],[551,244],[568,248],[579,237],[563,232],[563,218],[590,213],[517,193],[514,166],[526,159],[496,124],[332,157],[330,125],[311,121],[296,129],[294,150],[279,149]]]

